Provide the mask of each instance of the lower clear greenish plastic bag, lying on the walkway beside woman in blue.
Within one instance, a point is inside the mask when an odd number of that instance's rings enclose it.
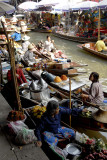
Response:
[[[32,143],[35,140],[37,139],[34,135],[34,130],[26,128],[22,128],[15,138],[15,142],[21,145]]]

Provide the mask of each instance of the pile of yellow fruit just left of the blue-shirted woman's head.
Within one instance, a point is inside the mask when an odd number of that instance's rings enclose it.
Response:
[[[32,109],[32,115],[35,117],[35,118],[41,118],[41,116],[43,115],[43,113],[46,111],[46,107],[45,106],[35,106],[33,109]]]

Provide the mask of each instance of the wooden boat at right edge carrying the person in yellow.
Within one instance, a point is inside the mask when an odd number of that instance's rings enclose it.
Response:
[[[78,45],[78,47],[88,51],[89,53],[91,53],[91,55],[97,55],[101,58],[107,59],[107,53],[98,52],[98,51],[94,50],[94,45],[95,45],[95,43],[90,42],[90,43]]]

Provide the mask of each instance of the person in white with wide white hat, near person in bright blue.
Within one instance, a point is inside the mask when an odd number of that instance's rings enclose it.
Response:
[[[28,46],[30,44],[29,42],[30,37],[25,35],[22,37],[22,51],[26,52],[28,50]]]

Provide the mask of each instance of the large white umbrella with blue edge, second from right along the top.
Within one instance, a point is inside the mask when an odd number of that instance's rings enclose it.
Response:
[[[80,2],[77,3],[73,6],[71,6],[70,8],[72,10],[88,10],[88,9],[92,9],[93,7],[96,7],[98,5],[97,2],[93,2],[93,1],[84,1],[84,2]]]

